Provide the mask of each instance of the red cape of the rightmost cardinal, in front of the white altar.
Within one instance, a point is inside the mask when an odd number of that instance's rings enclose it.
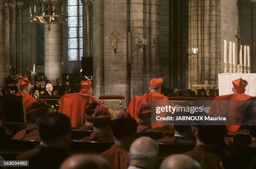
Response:
[[[234,94],[226,94],[222,96],[216,97],[211,104],[209,114],[221,114],[224,112],[225,114],[230,117],[230,122],[232,120],[236,120],[237,123],[242,122],[243,117],[248,110],[248,102],[236,102],[236,101],[245,101],[251,100],[252,97],[250,95],[241,93],[234,93]],[[229,106],[227,106],[228,102],[221,102],[221,101],[231,101],[229,102]],[[233,101],[232,101],[233,100]],[[219,102],[218,102],[219,101]],[[231,122],[233,123],[233,122]],[[237,132],[240,125],[229,125],[227,126],[228,132]]]

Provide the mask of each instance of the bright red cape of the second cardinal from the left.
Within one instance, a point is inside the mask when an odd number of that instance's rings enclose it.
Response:
[[[72,127],[79,128],[84,124],[86,104],[92,104],[93,102],[100,104],[97,99],[89,94],[66,94],[62,96],[59,112],[66,114],[70,118]]]

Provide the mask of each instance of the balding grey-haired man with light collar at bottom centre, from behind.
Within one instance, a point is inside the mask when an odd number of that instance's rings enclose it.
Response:
[[[159,147],[153,139],[140,137],[131,144],[128,169],[155,169],[158,154]]]

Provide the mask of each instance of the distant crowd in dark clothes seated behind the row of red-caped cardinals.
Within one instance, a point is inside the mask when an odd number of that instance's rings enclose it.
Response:
[[[22,75],[15,75],[13,77],[8,76],[5,79],[5,87],[2,91],[3,94],[8,92],[17,93],[20,91],[19,81],[22,80]],[[68,76],[66,80],[57,78],[56,80],[48,80],[47,77],[36,75],[35,77],[30,76],[29,81],[32,85],[31,95],[37,96],[37,94],[48,94],[46,89],[47,84],[51,84],[53,89],[51,95],[65,95],[70,93],[79,93],[80,82],[84,80],[84,77],[80,76]],[[185,92],[182,89],[167,89],[161,87],[161,94],[167,97],[216,97],[219,95],[218,89],[198,89],[197,92],[187,89]]]

